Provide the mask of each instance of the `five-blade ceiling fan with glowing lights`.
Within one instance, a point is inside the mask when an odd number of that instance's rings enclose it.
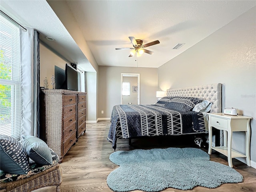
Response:
[[[159,44],[160,42],[158,40],[156,41],[153,41],[153,42],[150,42],[150,43],[147,43],[147,44],[144,44],[143,45],[143,40],[140,40],[140,39],[135,39],[134,37],[129,37],[129,39],[131,40],[132,42],[132,45],[133,45],[133,48],[116,48],[116,50],[120,50],[120,49],[130,49],[130,55],[129,57],[132,57],[134,56],[136,53],[137,53],[137,57],[141,56],[144,52],[145,53],[148,53],[150,55],[152,55],[154,52],[153,51],[150,51],[150,50],[147,50],[147,49],[144,49],[145,47],[149,47],[149,46],[152,46],[152,45],[156,45],[156,44]]]

